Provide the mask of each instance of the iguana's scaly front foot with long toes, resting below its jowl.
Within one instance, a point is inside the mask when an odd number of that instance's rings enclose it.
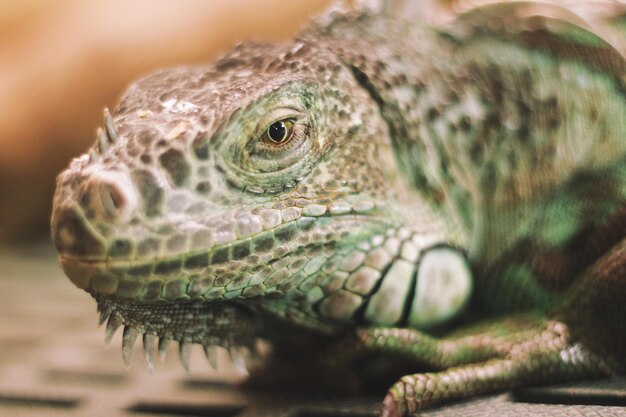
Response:
[[[480,324],[444,339],[414,329],[364,328],[336,346],[333,362],[364,354],[398,355],[432,372],[405,375],[387,392],[381,415],[533,383],[605,375],[605,365],[571,341],[565,324],[518,316]]]

